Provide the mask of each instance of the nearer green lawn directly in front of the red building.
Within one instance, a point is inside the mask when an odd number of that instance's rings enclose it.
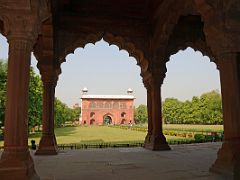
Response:
[[[99,143],[99,142],[126,142],[144,141],[145,132],[110,128],[107,126],[65,127],[55,129],[58,144],[72,143]],[[41,133],[30,134],[29,144],[32,139],[39,144]],[[181,140],[183,137],[166,136],[167,140]],[[0,142],[0,146],[3,142]]]

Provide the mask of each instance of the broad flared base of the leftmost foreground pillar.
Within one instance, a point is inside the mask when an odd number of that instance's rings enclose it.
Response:
[[[0,177],[2,180],[40,180],[28,150],[4,150],[0,160]]]

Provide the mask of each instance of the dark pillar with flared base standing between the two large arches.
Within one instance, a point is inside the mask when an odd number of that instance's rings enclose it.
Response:
[[[165,74],[152,73],[147,79],[148,83],[148,115],[150,117],[145,148],[151,150],[170,150],[162,130],[162,101],[161,85]]]

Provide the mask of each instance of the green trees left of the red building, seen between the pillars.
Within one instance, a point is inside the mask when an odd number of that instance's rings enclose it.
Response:
[[[6,103],[7,61],[0,60],[0,128],[4,126],[4,114]],[[42,81],[34,71],[30,69],[29,81],[29,130],[40,126],[42,123]],[[55,125],[62,126],[66,121],[78,119],[80,108],[71,109],[60,100],[55,102]]]

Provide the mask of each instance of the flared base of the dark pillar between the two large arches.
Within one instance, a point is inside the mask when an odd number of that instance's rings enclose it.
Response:
[[[144,148],[152,151],[171,150],[163,134],[157,136],[148,134],[145,138]]]

